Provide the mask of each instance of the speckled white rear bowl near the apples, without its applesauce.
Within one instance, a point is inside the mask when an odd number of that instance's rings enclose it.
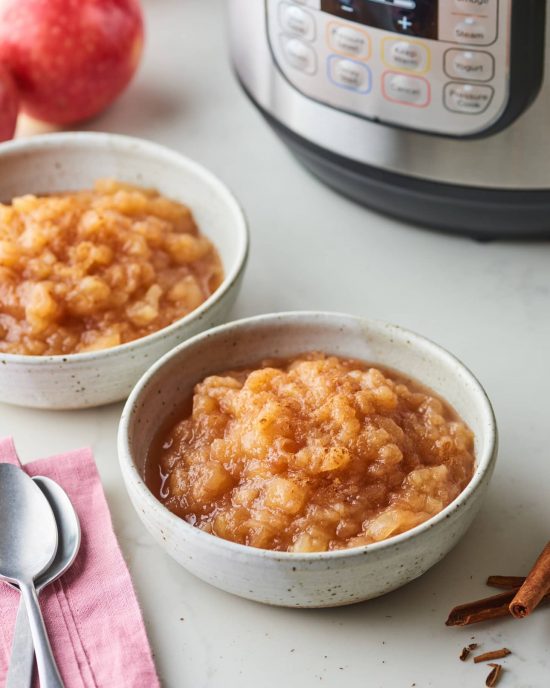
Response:
[[[199,308],[154,334],[69,356],[0,353],[0,401],[37,408],[84,408],[128,396],[162,354],[225,318],[238,294],[248,230],[229,190],[197,163],[148,141],[98,133],[47,134],[0,145],[0,199],[89,188],[100,177],[158,189],[190,206],[216,245],[225,279]]]

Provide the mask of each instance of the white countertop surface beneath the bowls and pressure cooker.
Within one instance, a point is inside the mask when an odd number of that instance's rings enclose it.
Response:
[[[240,92],[223,0],[145,6],[139,76],[88,128],[169,145],[234,190],[252,229],[235,318],[347,311],[417,330],[457,354],[485,385],[499,421],[488,498],[460,545],[405,588],[347,608],[277,609],[209,587],[156,546],[122,484],[120,404],[75,412],[0,406],[0,435],[15,437],[24,461],[92,446],[163,686],[481,687],[488,667],[458,660],[471,636],[483,649],[513,651],[499,688],[547,686],[550,609],[465,630],[444,621],[455,604],[491,594],[488,574],[526,572],[550,539],[550,244],[452,238],[337,196],[295,162]]]

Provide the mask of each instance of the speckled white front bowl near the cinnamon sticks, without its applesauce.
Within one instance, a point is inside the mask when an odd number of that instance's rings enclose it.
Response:
[[[143,482],[145,458],[161,423],[205,376],[262,358],[321,350],[389,366],[450,402],[475,433],[476,470],[464,492],[426,523],[355,549],[295,554],[238,545],[174,516]],[[264,315],[217,327],[158,361],[130,395],[120,421],[122,475],[136,511],[160,546],[199,578],[258,602],[328,607],[383,595],[420,576],[464,535],[476,515],[497,454],[491,404],[475,377],[436,344],[380,322],[333,313]]]

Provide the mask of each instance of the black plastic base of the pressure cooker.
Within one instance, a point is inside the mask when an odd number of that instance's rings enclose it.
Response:
[[[481,189],[382,171],[320,148],[259,109],[314,175],[381,213],[481,240],[550,238],[550,189]]]

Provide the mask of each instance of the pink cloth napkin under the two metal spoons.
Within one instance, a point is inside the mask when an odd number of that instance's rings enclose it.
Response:
[[[19,464],[11,439],[0,439],[0,461]],[[61,485],[82,528],[75,563],[40,596],[66,688],[157,688],[141,612],[92,452],[78,449],[24,468]],[[19,593],[0,583],[0,686],[6,681],[18,604]]]

